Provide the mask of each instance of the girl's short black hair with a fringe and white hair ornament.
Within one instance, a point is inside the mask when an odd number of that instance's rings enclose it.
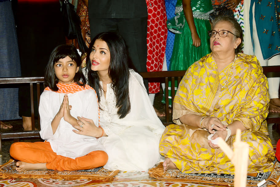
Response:
[[[53,91],[58,91],[58,87],[56,86],[56,84],[58,83],[58,78],[54,74],[54,64],[58,62],[59,59],[65,58],[67,56],[69,56],[74,62],[76,62],[77,67],[80,67],[82,64],[81,57],[74,46],[59,45],[54,48],[54,50],[50,54],[50,59],[45,70],[45,84],[46,86],[49,86]],[[85,86],[86,84],[86,78],[82,73],[81,67],[75,74],[74,82],[80,86]]]

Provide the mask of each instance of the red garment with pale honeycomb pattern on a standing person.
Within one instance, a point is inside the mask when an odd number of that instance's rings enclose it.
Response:
[[[148,9],[147,71],[162,71],[167,27],[164,0],[146,0]],[[159,92],[159,82],[149,82],[149,94]]]

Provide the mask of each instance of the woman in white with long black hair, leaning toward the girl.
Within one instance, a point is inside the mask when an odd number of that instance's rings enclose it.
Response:
[[[90,50],[88,81],[98,90],[102,129],[95,128],[89,119],[79,118],[84,130],[76,133],[103,135],[99,139],[109,157],[104,168],[145,171],[161,158],[158,145],[164,126],[150,103],[143,78],[128,68],[126,47],[120,35],[98,34]],[[78,126],[75,128],[80,130]]]

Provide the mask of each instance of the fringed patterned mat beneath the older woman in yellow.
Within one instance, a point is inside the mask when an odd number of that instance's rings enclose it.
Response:
[[[272,172],[250,173],[247,175],[246,186],[257,186],[262,181],[271,181],[275,186],[280,187],[280,163],[274,161]],[[190,182],[190,183],[206,183],[213,185],[234,185],[234,175],[217,174],[217,173],[182,173],[178,169],[169,169],[163,171],[162,162],[149,170],[150,177],[154,177],[162,181],[172,182]]]

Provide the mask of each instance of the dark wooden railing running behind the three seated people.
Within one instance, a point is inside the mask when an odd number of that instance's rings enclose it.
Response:
[[[168,87],[168,82],[171,81],[171,98],[172,102],[175,96],[175,87],[178,87],[182,77],[184,76],[186,71],[162,71],[162,72],[142,72],[140,75],[144,79],[148,79],[149,82],[161,82],[166,84],[166,88]],[[280,77],[280,66],[264,66],[263,72],[267,76],[268,73],[274,72],[276,76]],[[175,80],[178,81],[178,84],[175,85]],[[21,131],[21,132],[1,132],[0,130],[0,151],[1,151],[1,140],[8,138],[23,138],[23,137],[40,137],[40,120],[38,113],[38,130],[35,129],[35,115],[34,115],[34,107],[38,107],[39,98],[40,98],[40,87],[43,86],[44,78],[43,77],[25,77],[25,78],[0,78],[0,85],[10,85],[10,84],[29,84],[30,86],[30,99],[31,99],[31,120],[32,120],[32,130],[31,131]],[[34,106],[34,85],[36,85],[37,90],[37,100],[38,105]],[[169,92],[168,89],[165,90],[165,109],[166,109],[166,117],[163,122],[165,125],[172,123],[170,117],[172,117],[172,113],[169,113]],[[170,116],[171,115],[171,116]],[[269,113],[266,118],[268,123],[280,123],[280,113]]]

